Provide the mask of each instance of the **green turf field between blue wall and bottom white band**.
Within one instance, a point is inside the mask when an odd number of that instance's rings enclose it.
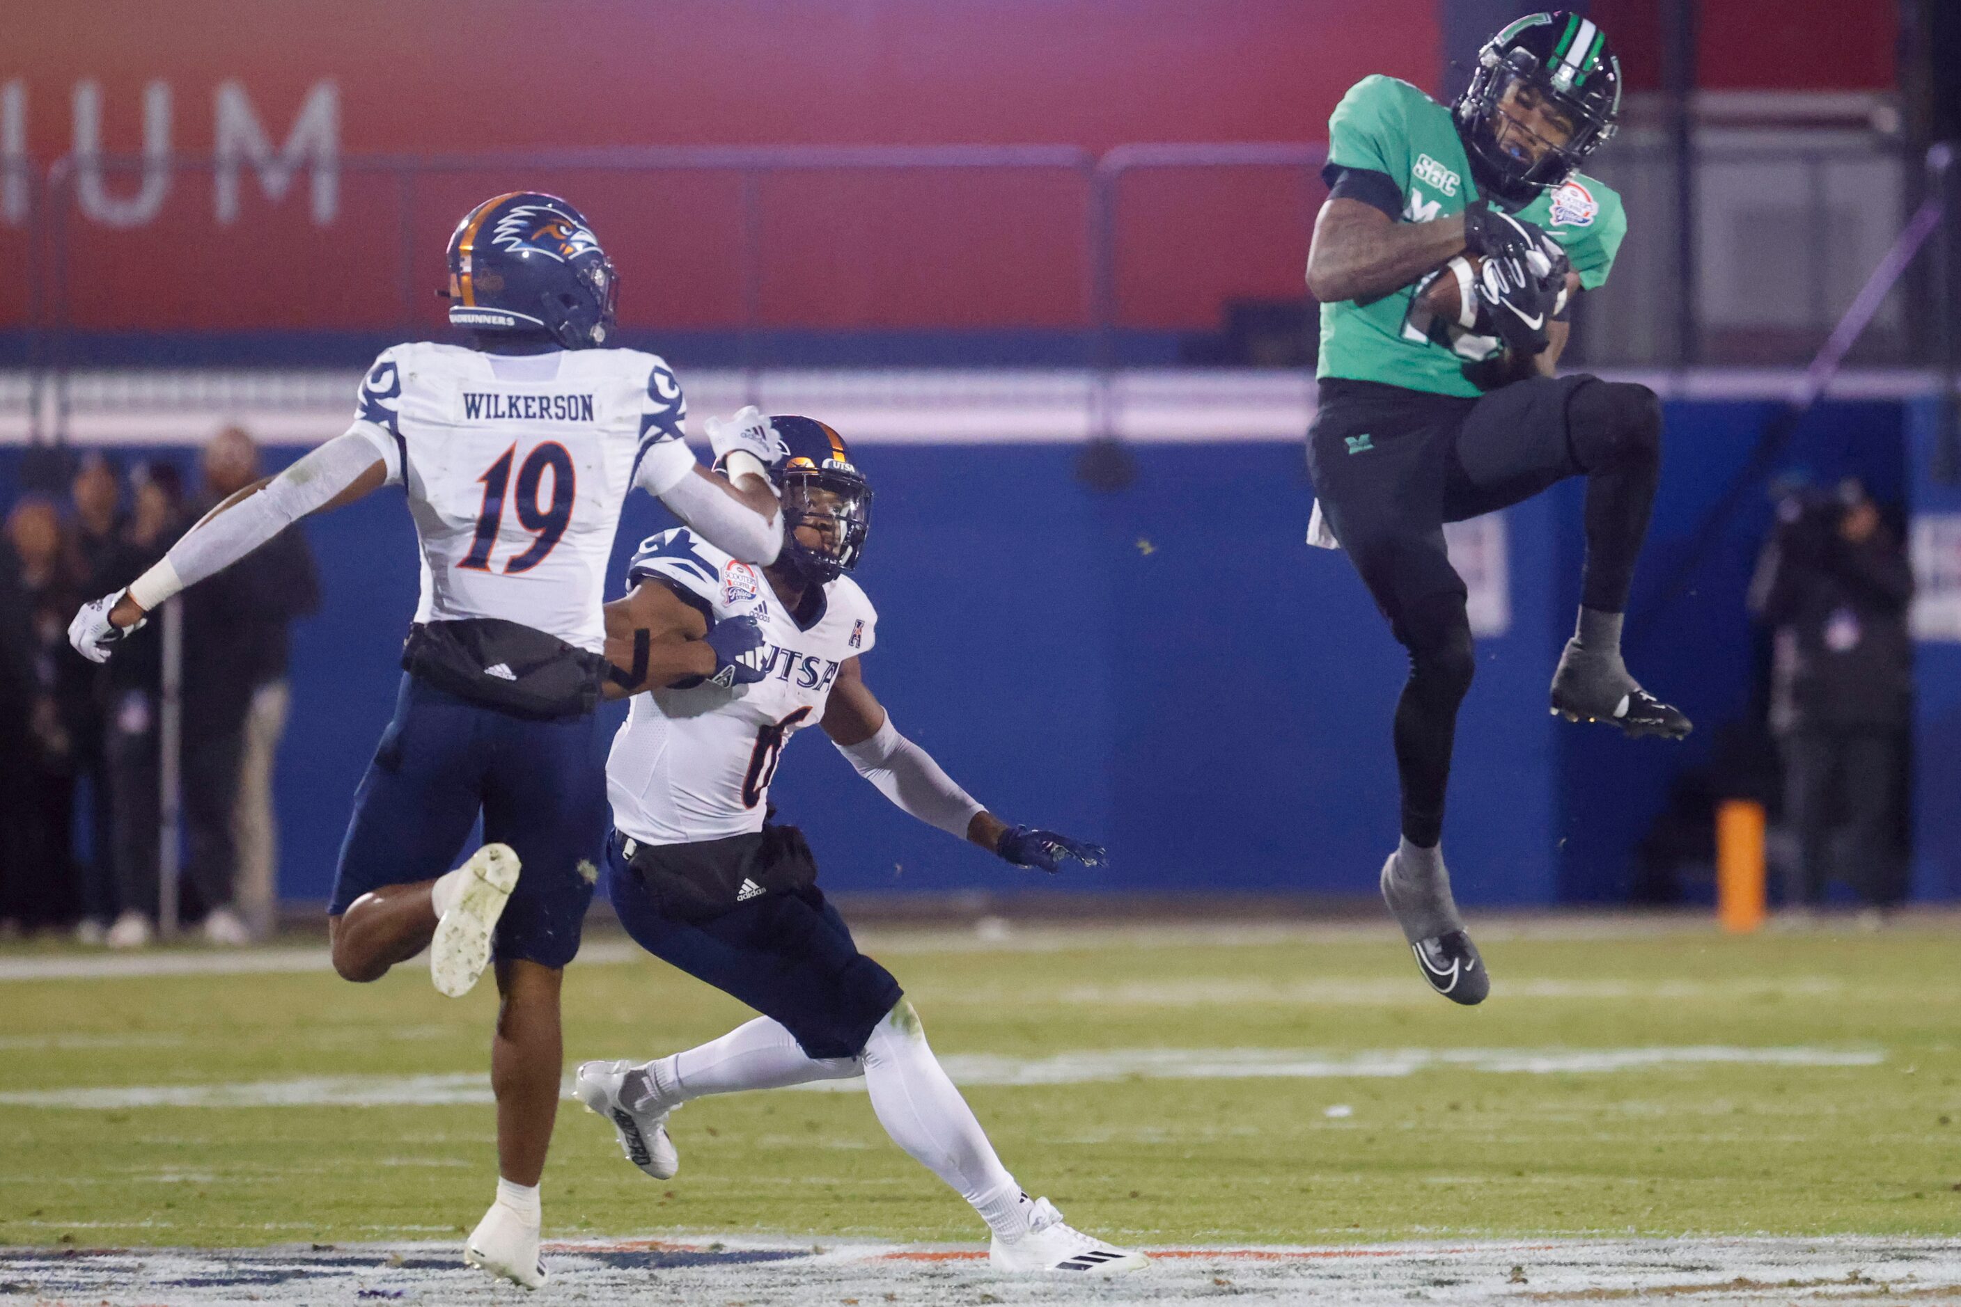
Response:
[[[1124,1242],[1961,1234],[1953,929],[1486,931],[1496,988],[1481,1009],[1428,993],[1388,931],[922,933],[867,950],[949,1062],[994,1080],[1118,1076],[967,1093],[1031,1193]],[[490,1197],[488,1105],[304,1099],[322,1084],[480,1097],[486,990],[443,999],[416,964],[365,988],[327,972],[0,982],[0,1242],[459,1234]],[[645,958],[575,964],[567,1005],[567,1066],[667,1052],[747,1015]],[[1184,1078],[1141,1074],[1147,1050]],[[1245,1074],[1286,1060],[1271,1050],[1320,1074]],[[1055,1060],[1077,1052],[1110,1058]],[[1722,1060],[1739,1056],[1781,1062]],[[135,1086],[302,1103],[76,1093]],[[108,1105],[33,1105],[45,1093]],[[708,1099],[673,1129],[682,1172],[659,1184],[567,1103],[547,1234],[982,1233],[863,1093]]]

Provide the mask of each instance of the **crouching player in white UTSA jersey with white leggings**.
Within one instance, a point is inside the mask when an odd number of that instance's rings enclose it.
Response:
[[[1018,866],[1088,864],[1102,848],[1010,827],[971,799],[892,725],[859,672],[879,615],[845,572],[865,549],[871,488],[845,443],[810,417],[737,415],[786,457],[782,555],[753,568],[696,539],[655,535],[633,558],[631,594],[606,605],[608,649],[631,664],[631,711],[606,762],[614,833],[608,892],[655,956],[763,1013],[722,1039],[653,1062],[586,1062],[577,1093],[614,1123],[629,1162],[657,1180],[679,1158],[667,1117],[688,1099],[863,1076],[879,1123],[992,1227],[1006,1272],[1112,1274],[1145,1264],[1063,1225],[994,1156],[933,1058],[890,972],[857,950],[816,886],[804,837],[769,815],[782,749],[818,725],[910,815]],[[728,629],[761,629],[728,658]]]

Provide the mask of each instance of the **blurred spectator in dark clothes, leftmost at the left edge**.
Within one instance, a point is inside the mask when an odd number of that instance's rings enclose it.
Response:
[[[27,721],[20,790],[8,794],[12,874],[0,919],[20,929],[75,921],[73,866],[76,702],[88,700],[90,664],[69,649],[69,617],[82,602],[65,566],[61,513],[47,496],[24,496],[8,513],[14,586],[27,641]]]

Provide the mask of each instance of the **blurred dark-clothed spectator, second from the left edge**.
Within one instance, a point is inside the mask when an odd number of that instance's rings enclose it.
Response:
[[[127,582],[118,574],[118,555],[122,553],[122,486],[116,480],[116,466],[100,451],[82,455],[69,484],[69,500],[75,517],[69,523],[65,555],[69,574],[84,594],[96,596]],[[75,745],[73,766],[76,788],[88,786],[88,829],[90,852],[80,862],[80,907],[82,919],[76,937],[82,943],[102,943],[104,929],[116,917],[118,896],[114,876],[114,827],[110,819],[110,792],[106,772],[108,741],[108,674],[102,668],[86,672],[88,694],[73,705],[71,737]]]

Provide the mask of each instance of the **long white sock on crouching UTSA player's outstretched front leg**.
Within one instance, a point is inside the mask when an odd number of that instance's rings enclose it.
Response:
[[[863,1062],[871,1107],[892,1142],[973,1203],[1000,1238],[1022,1238],[1033,1205],[947,1080],[912,1003],[873,1027]]]

